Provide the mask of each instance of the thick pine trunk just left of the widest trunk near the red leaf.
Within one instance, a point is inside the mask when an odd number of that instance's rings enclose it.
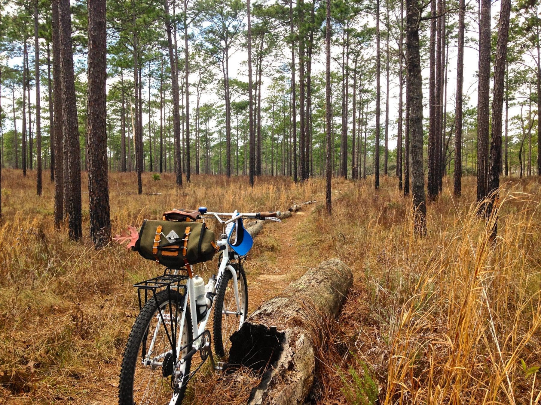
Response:
[[[62,132],[64,153],[68,156],[68,167],[64,167],[64,180],[68,179],[68,227],[69,237],[79,240],[81,229],[81,151],[75,100],[75,78],[71,50],[71,12],[69,0],[60,0],[58,7],[60,22],[60,64],[62,83]],[[67,170],[66,170],[67,169]],[[67,174],[67,176],[66,176]],[[64,185],[66,181],[64,181]],[[65,191],[65,188],[64,188]]]

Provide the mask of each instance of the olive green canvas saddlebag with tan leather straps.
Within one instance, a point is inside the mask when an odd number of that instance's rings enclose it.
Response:
[[[188,229],[189,228],[189,229]],[[144,220],[134,250],[168,268],[212,260],[215,234],[203,222]],[[185,247],[185,248],[184,248]]]

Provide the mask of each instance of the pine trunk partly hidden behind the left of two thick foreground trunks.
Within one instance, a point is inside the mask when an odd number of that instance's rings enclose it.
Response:
[[[55,229],[64,218],[64,147],[62,132],[62,83],[60,63],[60,25],[58,0],[52,0],[52,86],[54,87],[54,149],[55,149]]]

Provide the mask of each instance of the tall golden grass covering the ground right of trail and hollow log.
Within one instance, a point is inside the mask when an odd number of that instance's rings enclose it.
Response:
[[[460,199],[446,188],[428,207],[426,237],[414,232],[409,199],[388,183],[378,192],[344,185],[333,219],[314,224],[357,276],[332,337],[343,347],[338,372],[321,361],[320,399],[345,385],[339,375],[357,367],[354,350],[372,365],[381,403],[539,401],[537,180],[505,184],[489,219],[477,214],[471,179]]]

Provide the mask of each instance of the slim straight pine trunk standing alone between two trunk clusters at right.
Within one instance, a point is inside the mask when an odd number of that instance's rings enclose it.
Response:
[[[458,56],[457,56],[457,93],[456,110],[454,113],[454,195],[462,193],[462,87],[464,77],[464,30],[465,30],[465,0],[460,0],[458,16]]]

